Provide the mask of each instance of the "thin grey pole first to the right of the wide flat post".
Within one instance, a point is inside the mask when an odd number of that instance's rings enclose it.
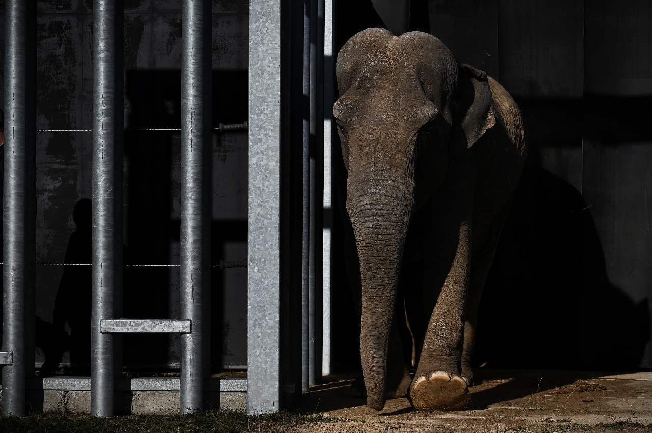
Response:
[[[308,391],[310,341],[310,3],[303,0],[303,197],[301,225],[301,392]]]

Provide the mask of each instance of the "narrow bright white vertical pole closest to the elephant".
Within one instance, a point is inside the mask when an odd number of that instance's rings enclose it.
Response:
[[[321,374],[331,374],[331,128],[333,112],[333,0],[324,5],[324,123],[323,123],[323,291]]]

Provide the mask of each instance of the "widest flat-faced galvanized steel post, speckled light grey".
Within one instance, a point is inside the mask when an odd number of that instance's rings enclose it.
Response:
[[[281,0],[249,1],[246,412],[280,410]]]

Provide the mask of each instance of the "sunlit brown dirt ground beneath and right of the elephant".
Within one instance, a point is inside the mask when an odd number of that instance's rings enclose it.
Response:
[[[479,369],[459,412],[417,412],[406,398],[376,412],[349,397],[353,377],[326,376],[302,396],[300,412],[346,421],[297,426],[309,433],[652,431],[652,372],[613,374]]]

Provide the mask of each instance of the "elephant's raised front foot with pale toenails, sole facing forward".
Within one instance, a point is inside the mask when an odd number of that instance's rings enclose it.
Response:
[[[430,371],[412,381],[408,398],[417,410],[460,410],[471,394],[461,376]]]

